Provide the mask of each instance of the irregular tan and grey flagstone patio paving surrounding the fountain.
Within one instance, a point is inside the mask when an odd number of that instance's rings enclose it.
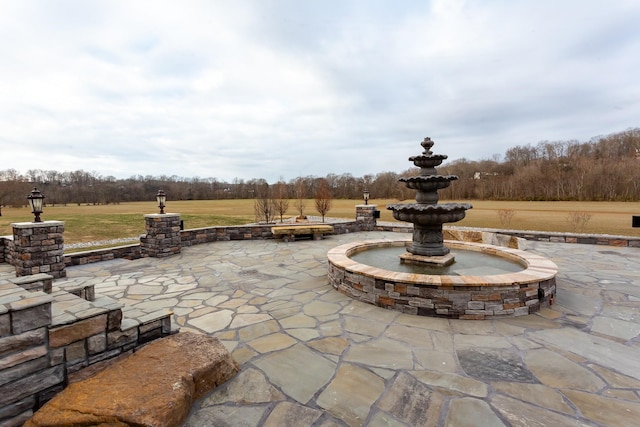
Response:
[[[126,303],[171,309],[241,365],[186,426],[632,426],[640,423],[640,251],[530,242],[559,269],[550,309],[447,320],[351,300],[327,251],[394,233],[229,241],[67,268]],[[127,316],[127,314],[125,314]]]

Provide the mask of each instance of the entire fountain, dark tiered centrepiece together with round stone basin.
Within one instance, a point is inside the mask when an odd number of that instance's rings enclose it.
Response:
[[[452,240],[443,239],[442,225],[463,219],[471,205],[438,204],[438,190],[457,177],[437,174],[436,166],[447,156],[431,152],[431,139],[421,145],[424,152],[409,158],[420,168],[419,175],[401,180],[417,190],[416,203],[387,206],[397,220],[413,223],[412,240],[363,240],[332,248],[327,254],[329,283],[360,301],[421,316],[489,319],[530,314],[551,304],[557,266],[550,260],[519,250],[511,241],[509,247],[481,243],[486,234],[490,241],[508,236],[480,230],[447,230]],[[374,255],[388,250],[393,253],[391,263]],[[454,262],[453,253],[459,262]],[[370,255],[376,261],[369,261]],[[515,268],[487,269],[505,261]],[[414,268],[417,271],[406,270]]]

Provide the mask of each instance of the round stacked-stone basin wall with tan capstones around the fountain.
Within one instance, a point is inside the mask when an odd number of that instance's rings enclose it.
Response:
[[[350,258],[369,248],[411,244],[409,239],[371,240],[329,250],[329,282],[360,301],[420,316],[478,320],[522,316],[553,302],[558,268],[552,261],[519,249],[445,242],[453,250],[480,251],[510,259],[522,265],[522,270],[489,276],[428,275],[385,270]]]

